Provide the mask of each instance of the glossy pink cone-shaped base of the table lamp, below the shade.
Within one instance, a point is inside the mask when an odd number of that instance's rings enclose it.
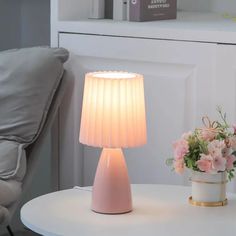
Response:
[[[92,210],[103,214],[132,211],[129,176],[121,149],[102,150],[93,185]]]

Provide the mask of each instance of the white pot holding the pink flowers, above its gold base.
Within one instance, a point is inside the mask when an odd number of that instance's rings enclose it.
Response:
[[[192,171],[191,180],[193,201],[216,203],[226,200],[226,172],[207,174]]]

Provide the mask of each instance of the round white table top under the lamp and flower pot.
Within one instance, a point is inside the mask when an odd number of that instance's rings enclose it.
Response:
[[[188,204],[190,187],[132,185],[133,211],[121,215],[90,210],[91,189],[69,189],[31,200],[21,209],[21,220],[46,236],[235,236],[236,194],[224,207]]]

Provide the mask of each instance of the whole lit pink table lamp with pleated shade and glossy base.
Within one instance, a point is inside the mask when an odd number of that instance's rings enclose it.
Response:
[[[102,147],[92,192],[92,210],[132,211],[129,176],[121,148],[146,143],[143,76],[94,72],[85,76],[80,142]]]

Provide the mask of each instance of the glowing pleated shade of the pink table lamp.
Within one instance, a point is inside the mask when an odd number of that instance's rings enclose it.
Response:
[[[142,75],[111,71],[86,74],[80,142],[105,148],[146,143]]]

